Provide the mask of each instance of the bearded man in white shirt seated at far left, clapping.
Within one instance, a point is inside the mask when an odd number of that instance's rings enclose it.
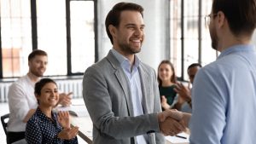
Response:
[[[28,55],[29,72],[19,78],[9,87],[9,122],[7,127],[7,141],[9,143],[25,138],[26,122],[38,107],[34,95],[34,85],[43,77],[48,64],[47,53],[43,50],[33,50]],[[69,94],[62,93],[59,103],[68,106],[71,103]]]

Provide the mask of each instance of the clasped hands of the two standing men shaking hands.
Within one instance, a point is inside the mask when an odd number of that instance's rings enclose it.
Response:
[[[160,131],[164,135],[177,135],[185,131],[189,126],[191,114],[178,112],[177,110],[166,110],[158,114]]]

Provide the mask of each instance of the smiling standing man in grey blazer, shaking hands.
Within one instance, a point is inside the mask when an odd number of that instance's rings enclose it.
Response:
[[[143,8],[117,3],[105,21],[113,43],[108,55],[84,72],[84,102],[96,144],[163,144],[164,136],[184,130],[182,122],[161,112],[154,69],[143,64]]]

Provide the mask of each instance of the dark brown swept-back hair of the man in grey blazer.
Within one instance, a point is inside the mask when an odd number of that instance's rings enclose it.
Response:
[[[113,37],[108,30],[108,26],[113,25],[115,27],[118,27],[120,23],[120,14],[122,11],[125,11],[125,10],[138,11],[143,16],[144,9],[142,6],[136,3],[122,2],[122,3],[117,3],[113,6],[113,8],[108,12],[107,18],[105,20],[106,31],[112,44],[113,44]]]

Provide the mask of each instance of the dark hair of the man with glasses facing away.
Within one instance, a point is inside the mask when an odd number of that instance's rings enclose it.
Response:
[[[256,27],[256,0],[213,0],[212,14],[222,11],[235,36],[252,35]]]

